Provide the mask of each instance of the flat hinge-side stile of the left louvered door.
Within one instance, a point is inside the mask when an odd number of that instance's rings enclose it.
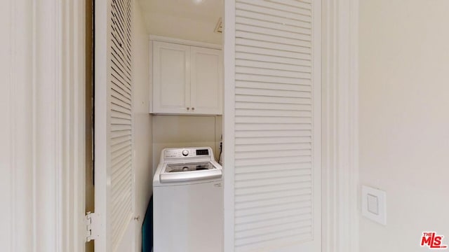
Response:
[[[110,41],[108,34],[110,31],[109,13],[111,13],[111,0],[97,0],[95,1],[95,214],[98,214],[98,234],[95,238],[95,251],[104,252],[112,251],[111,240],[111,223],[108,222],[110,218],[110,209],[108,208],[110,202],[110,187],[111,183],[107,182],[110,178],[110,171],[106,167],[109,164],[109,146],[107,146],[107,139],[109,139],[107,118],[109,114],[109,89],[107,81],[110,74],[109,63],[109,48]],[[109,169],[110,170],[110,169]]]

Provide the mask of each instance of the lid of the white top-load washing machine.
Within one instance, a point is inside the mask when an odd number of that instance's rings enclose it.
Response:
[[[222,169],[217,169],[212,162],[189,162],[167,164],[159,175],[159,181],[161,183],[175,183],[220,179],[221,177]]]

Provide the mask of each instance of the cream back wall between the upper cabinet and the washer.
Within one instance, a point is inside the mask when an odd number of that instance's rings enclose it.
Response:
[[[163,148],[210,146],[218,160],[221,134],[222,116],[153,116],[153,172]]]

